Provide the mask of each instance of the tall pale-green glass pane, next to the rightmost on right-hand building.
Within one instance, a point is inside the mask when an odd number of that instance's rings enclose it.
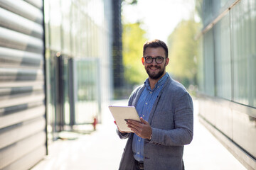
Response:
[[[244,15],[241,15],[242,3],[235,6],[231,13],[233,21],[233,100],[248,105],[247,56],[250,45],[248,44],[248,26],[243,20]]]

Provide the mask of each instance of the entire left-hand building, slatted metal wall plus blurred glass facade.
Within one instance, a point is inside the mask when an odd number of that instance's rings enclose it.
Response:
[[[58,132],[100,122],[111,66],[111,1],[0,1],[0,169],[30,169]]]

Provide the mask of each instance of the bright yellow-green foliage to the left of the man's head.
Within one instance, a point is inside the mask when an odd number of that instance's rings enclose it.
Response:
[[[142,84],[147,74],[142,64],[142,48],[146,31],[140,28],[140,23],[123,25],[122,44],[124,61],[124,79],[133,86]]]

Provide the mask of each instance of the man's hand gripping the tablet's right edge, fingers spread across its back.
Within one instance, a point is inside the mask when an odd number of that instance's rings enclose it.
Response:
[[[130,128],[132,132],[134,132],[139,137],[149,139],[152,134],[151,126],[142,117],[140,118],[140,120],[142,121],[142,123],[139,123],[136,120],[127,120],[128,128]]]

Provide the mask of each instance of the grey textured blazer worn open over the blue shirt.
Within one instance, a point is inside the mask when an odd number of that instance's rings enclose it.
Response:
[[[129,106],[137,105],[145,86],[135,89]],[[183,166],[183,146],[193,138],[193,101],[184,86],[168,77],[149,115],[152,139],[144,140],[145,170],[181,170]],[[120,138],[128,137],[119,165],[120,170],[132,170],[134,157],[132,152],[133,133],[120,133]]]

